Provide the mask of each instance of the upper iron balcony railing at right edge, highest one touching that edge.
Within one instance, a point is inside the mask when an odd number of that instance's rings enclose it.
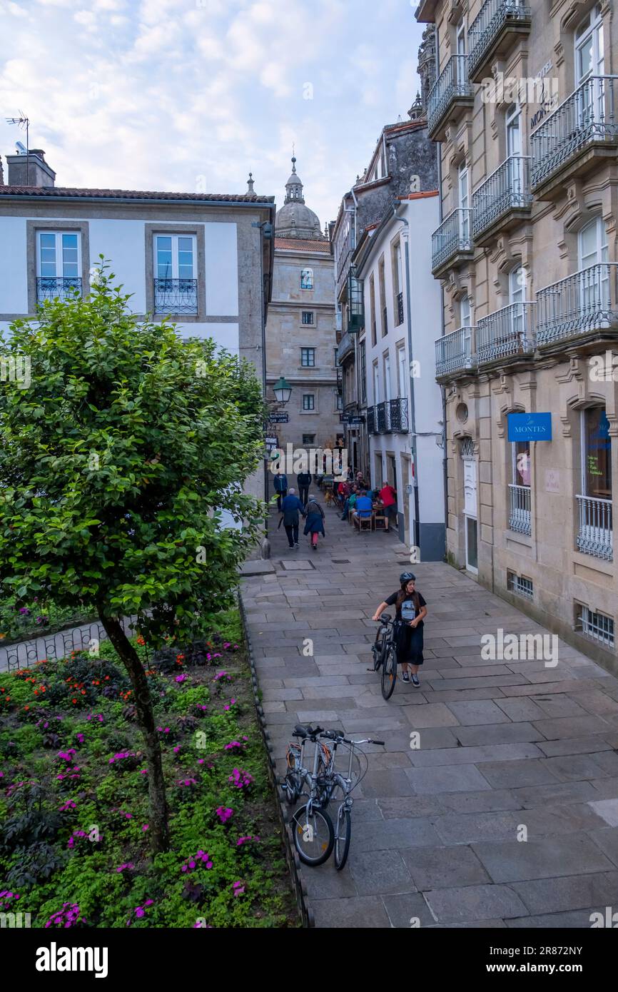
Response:
[[[593,75],[546,117],[531,137],[533,188],[582,150],[618,142],[618,75]]]

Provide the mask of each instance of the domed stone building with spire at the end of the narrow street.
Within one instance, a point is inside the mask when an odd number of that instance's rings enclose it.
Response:
[[[273,424],[279,447],[332,448],[340,434],[335,365],[333,260],[328,237],[305,202],[296,159],[275,221],[273,295],[266,324],[267,395],[281,375],[292,386]]]

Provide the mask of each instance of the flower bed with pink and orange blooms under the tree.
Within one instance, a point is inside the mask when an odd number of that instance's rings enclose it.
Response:
[[[237,612],[222,622],[218,657],[172,672],[137,639],[170,806],[171,848],[154,859],[142,737],[109,643],[0,675],[0,910],[50,929],[300,925]]]

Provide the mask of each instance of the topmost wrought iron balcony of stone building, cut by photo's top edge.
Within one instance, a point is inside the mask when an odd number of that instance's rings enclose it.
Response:
[[[524,0],[486,0],[468,30],[468,71],[480,82],[497,55],[504,55],[518,35],[530,34],[532,14]]]

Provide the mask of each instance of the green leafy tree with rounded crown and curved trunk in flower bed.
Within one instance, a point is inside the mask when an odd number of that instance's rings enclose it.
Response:
[[[249,363],[140,322],[102,259],[95,276],[88,298],[47,303],[0,335],[0,355],[30,362],[29,386],[0,384],[0,582],[18,601],[96,609],[132,682],[160,851],[161,748],[122,618],[137,615],[158,648],[203,634],[232,603],[263,517],[242,483],[259,463],[264,407]]]

